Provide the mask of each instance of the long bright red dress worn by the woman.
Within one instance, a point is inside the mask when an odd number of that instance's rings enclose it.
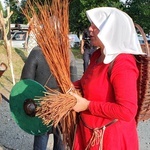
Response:
[[[138,150],[135,116],[139,72],[135,58],[130,54],[118,55],[108,73],[109,64],[96,62],[99,56],[97,50],[81,80],[74,83],[91,101],[89,110],[80,112],[82,119],[77,126],[74,150],[85,150],[93,135],[92,129],[114,119],[118,121],[107,126],[102,137],[94,138],[87,149],[99,150],[101,145],[102,150]],[[97,137],[102,130],[98,131]]]

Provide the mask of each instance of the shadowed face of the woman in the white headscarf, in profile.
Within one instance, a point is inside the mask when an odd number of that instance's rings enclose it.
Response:
[[[89,31],[90,31],[90,39],[91,39],[92,45],[103,49],[104,45],[97,36],[100,30],[92,23],[91,26],[89,27]]]

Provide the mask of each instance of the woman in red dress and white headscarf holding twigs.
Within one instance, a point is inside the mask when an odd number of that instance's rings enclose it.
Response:
[[[91,42],[99,47],[83,77],[74,83],[83,97],[74,110],[79,123],[74,150],[138,150],[135,116],[139,72],[134,55],[143,54],[132,19],[109,7],[86,12]]]

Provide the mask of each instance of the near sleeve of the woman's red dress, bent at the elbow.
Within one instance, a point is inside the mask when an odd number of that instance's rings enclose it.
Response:
[[[116,102],[91,101],[91,114],[124,121],[132,120],[137,113],[137,78],[138,69],[134,56],[119,55],[114,61],[110,76]]]

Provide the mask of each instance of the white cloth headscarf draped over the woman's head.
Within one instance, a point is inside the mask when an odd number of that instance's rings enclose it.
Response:
[[[100,30],[98,38],[105,46],[105,64],[120,53],[144,54],[134,23],[125,12],[112,7],[99,7],[86,11],[86,14]]]

